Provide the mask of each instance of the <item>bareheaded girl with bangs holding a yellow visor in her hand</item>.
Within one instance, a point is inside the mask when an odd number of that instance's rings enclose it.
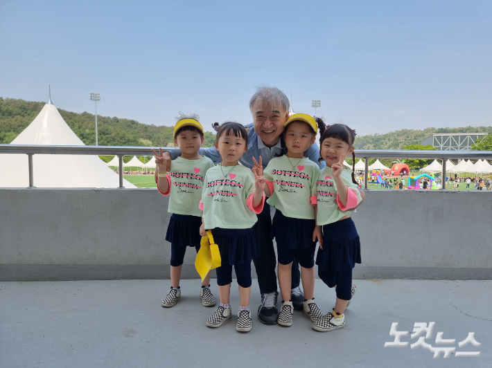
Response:
[[[209,169],[205,176],[200,233],[204,236],[205,230],[211,230],[222,264],[216,268],[220,306],[207,320],[207,326],[219,327],[231,318],[229,294],[234,266],[240,300],[236,330],[247,332],[252,329],[251,261],[258,257],[253,226],[256,214],[263,210],[265,178],[238,163],[247,150],[247,131],[243,125],[237,122],[220,125],[215,146],[222,163]]]

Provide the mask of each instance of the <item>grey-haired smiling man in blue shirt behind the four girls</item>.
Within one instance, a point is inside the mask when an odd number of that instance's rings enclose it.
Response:
[[[246,167],[253,167],[253,158],[261,156],[263,168],[276,154],[280,154],[281,134],[283,125],[289,117],[290,103],[282,91],[275,87],[261,87],[249,100],[249,110],[253,116],[253,123],[245,125],[248,131],[247,152],[240,159],[240,163]],[[215,147],[200,149],[200,154],[207,156],[214,163],[220,163],[221,158]],[[179,149],[170,150],[171,159],[179,156]],[[165,154],[165,155],[166,155]],[[304,156],[318,163],[319,149],[316,145],[309,147]],[[169,157],[169,156],[168,156]],[[319,165],[319,164],[318,164]],[[324,167],[324,162],[320,167]],[[364,193],[362,193],[364,199]],[[254,226],[256,243],[258,246],[258,258],[254,259],[258,285],[260,286],[261,304],[258,308],[258,319],[264,324],[275,324],[279,316],[276,302],[279,295],[276,283],[276,257],[271,237],[272,219],[270,217],[270,205],[265,203],[263,212],[258,214],[258,222]],[[300,282],[299,263],[292,264],[292,304],[296,309],[303,309],[304,293],[299,288]]]

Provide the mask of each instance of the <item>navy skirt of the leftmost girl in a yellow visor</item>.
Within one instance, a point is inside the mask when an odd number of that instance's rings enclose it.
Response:
[[[169,220],[166,240],[184,247],[200,246],[200,226],[202,217],[173,213]]]

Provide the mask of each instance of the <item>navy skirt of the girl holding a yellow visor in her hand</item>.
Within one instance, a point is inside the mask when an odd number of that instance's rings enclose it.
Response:
[[[251,263],[258,257],[256,234],[249,229],[212,229],[213,241],[219,246],[222,266]]]

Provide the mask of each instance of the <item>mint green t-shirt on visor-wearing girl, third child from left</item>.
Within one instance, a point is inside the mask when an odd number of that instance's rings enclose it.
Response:
[[[311,196],[316,196],[319,167],[309,158],[290,158],[283,155],[272,158],[263,170],[267,181],[274,186],[267,203],[286,217],[315,219]]]

